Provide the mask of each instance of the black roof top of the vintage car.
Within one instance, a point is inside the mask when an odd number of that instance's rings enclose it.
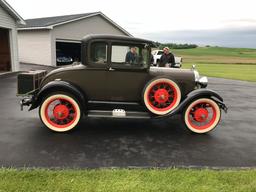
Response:
[[[133,43],[147,43],[151,47],[156,47],[156,44],[154,41],[147,40],[147,39],[141,39],[136,37],[128,37],[123,35],[108,35],[108,34],[90,34],[86,35],[82,41],[87,42],[92,39],[103,39],[103,40],[117,40],[117,41],[130,41]]]

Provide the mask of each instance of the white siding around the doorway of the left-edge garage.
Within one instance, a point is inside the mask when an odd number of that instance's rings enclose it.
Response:
[[[9,29],[12,71],[19,70],[16,21],[0,6],[0,27]]]

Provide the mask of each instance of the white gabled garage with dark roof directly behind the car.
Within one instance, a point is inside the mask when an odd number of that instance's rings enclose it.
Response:
[[[132,36],[102,12],[25,20],[18,28],[22,63],[60,66],[81,61],[81,40],[89,34]]]

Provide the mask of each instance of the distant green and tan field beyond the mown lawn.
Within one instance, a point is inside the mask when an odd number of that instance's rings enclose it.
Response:
[[[181,56],[185,63],[256,64],[256,49],[198,47],[174,49],[172,52]]]

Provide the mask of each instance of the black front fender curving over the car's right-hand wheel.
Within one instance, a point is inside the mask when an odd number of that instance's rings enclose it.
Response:
[[[164,115],[165,117],[167,116],[172,116],[178,113],[183,112],[184,108],[190,104],[191,102],[193,102],[196,99],[199,98],[211,98],[214,101],[216,101],[216,103],[218,103],[218,105],[226,112],[227,111],[227,107],[225,106],[225,104],[223,103],[223,98],[215,91],[211,90],[211,89],[196,89],[192,92],[190,92],[186,98],[170,113]],[[161,116],[160,116],[161,117]]]

